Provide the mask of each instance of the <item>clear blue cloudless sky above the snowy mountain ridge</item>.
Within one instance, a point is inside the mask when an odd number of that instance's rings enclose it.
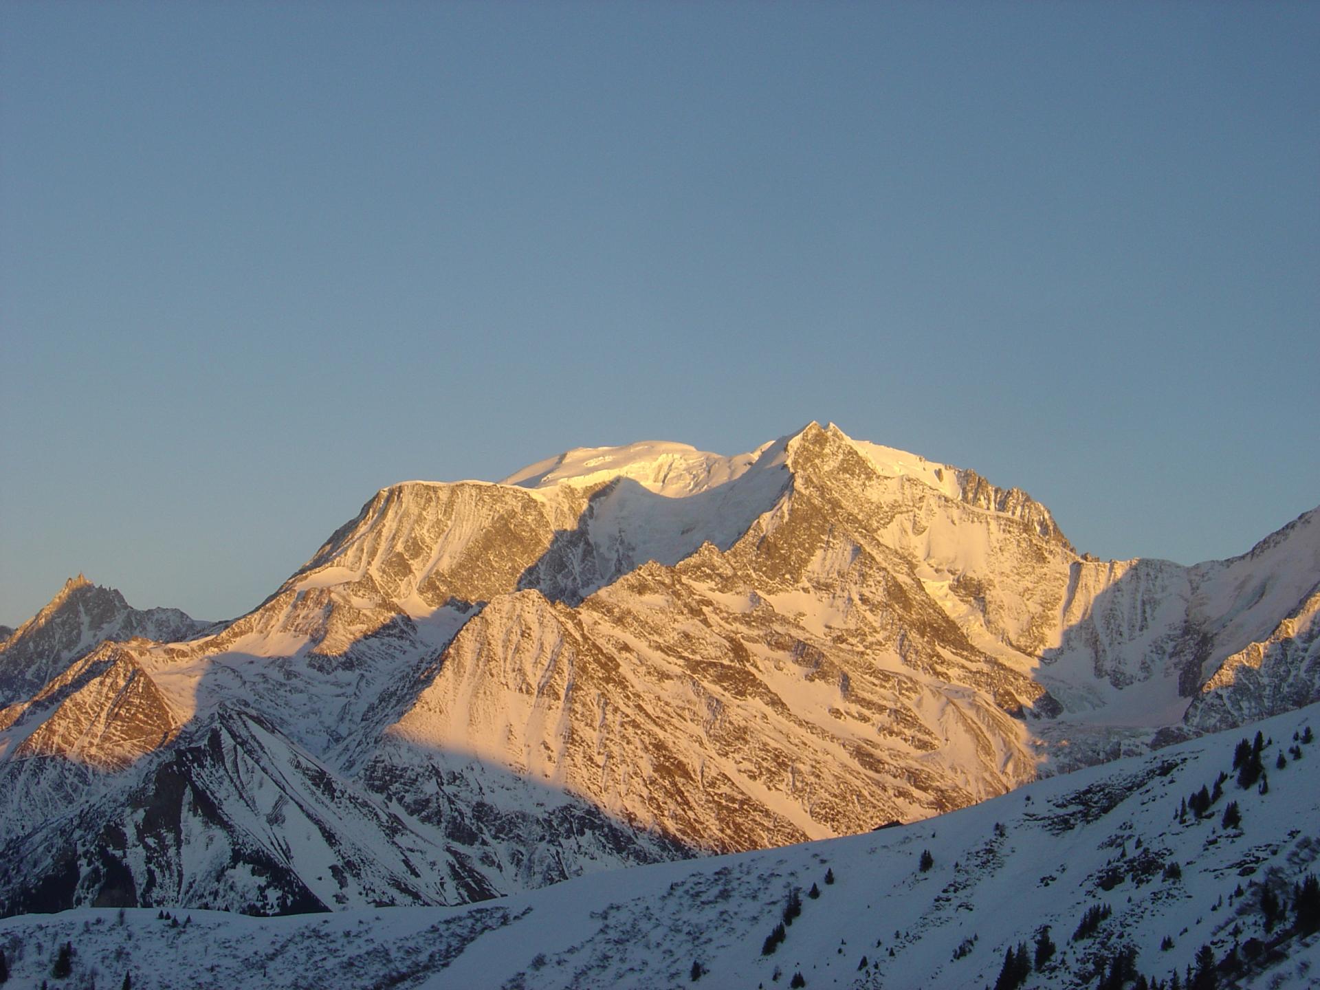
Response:
[[[1320,4],[0,12],[0,622],[809,420],[1193,562],[1320,503]]]

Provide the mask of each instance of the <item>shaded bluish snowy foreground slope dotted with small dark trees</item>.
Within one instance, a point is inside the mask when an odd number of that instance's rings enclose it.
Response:
[[[1201,946],[1221,986],[1309,987],[1320,935],[1292,931],[1291,909],[1294,884],[1320,866],[1320,746],[1294,742],[1308,726],[1320,729],[1320,706],[913,825],[595,874],[469,907],[173,920],[79,908],[3,920],[0,948],[8,986],[24,989],[48,979],[70,942],[73,974],[51,986],[120,986],[128,973],[139,990],[664,987],[692,986],[696,964],[697,986],[787,987],[801,974],[808,987],[899,990],[993,986],[1006,950],[1026,942],[1034,956],[1049,925],[1056,952],[1027,987],[1097,986],[1123,950],[1135,973],[1168,979],[1197,968]],[[1234,751],[1257,730],[1269,739],[1265,774],[1243,788]],[[1183,801],[1221,774],[1208,813],[1179,821]],[[1224,825],[1229,803],[1236,826]],[[801,913],[763,954],[793,890]],[[1266,890],[1284,906],[1271,931]],[[1074,940],[1096,906],[1111,915]],[[1221,968],[1225,957],[1236,966]]]

